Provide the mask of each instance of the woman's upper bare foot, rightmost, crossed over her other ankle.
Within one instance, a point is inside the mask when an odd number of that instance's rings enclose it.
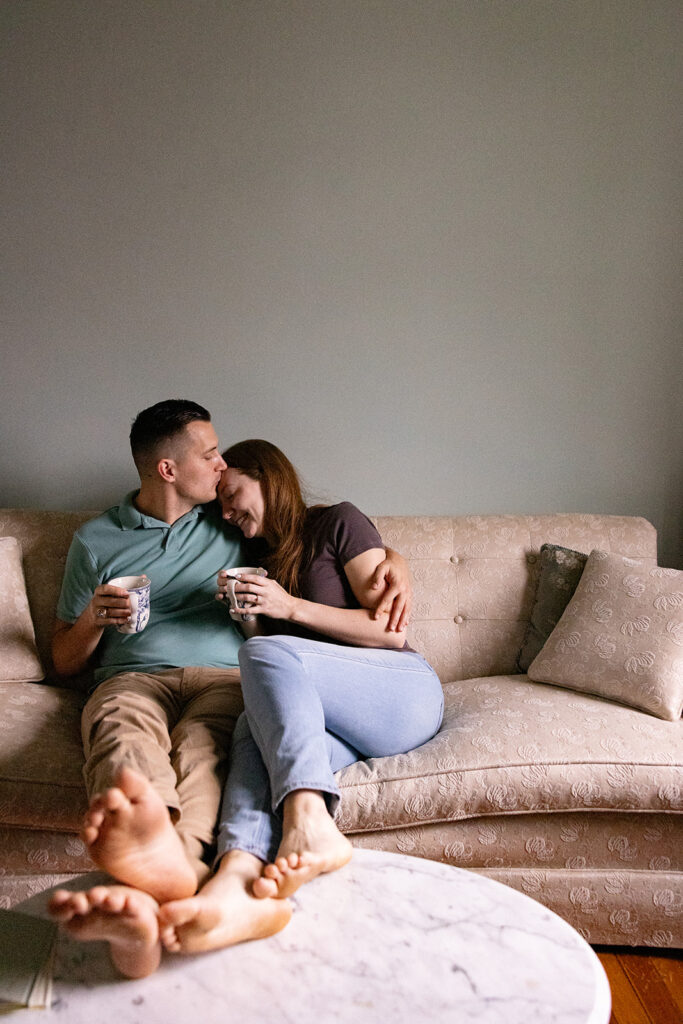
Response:
[[[274,863],[266,864],[254,882],[254,896],[291,896],[318,874],[343,867],[352,853],[353,847],[337,828],[324,797],[297,790],[285,799],[283,841]]]

